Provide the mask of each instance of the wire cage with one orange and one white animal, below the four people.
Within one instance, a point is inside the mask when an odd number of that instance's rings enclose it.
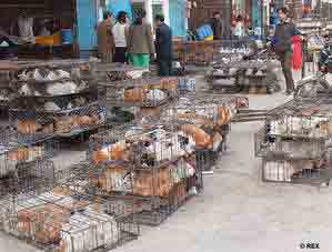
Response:
[[[178,78],[140,78],[100,84],[111,107],[160,107],[178,98]]]

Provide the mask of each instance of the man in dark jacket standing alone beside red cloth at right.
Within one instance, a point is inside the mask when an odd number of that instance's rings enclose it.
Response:
[[[292,37],[300,34],[295,24],[288,17],[288,8],[279,9],[279,18],[281,22],[276,26],[273,37],[273,48],[278,54],[282,72],[286,83],[286,94],[294,91],[294,81],[292,75]]]

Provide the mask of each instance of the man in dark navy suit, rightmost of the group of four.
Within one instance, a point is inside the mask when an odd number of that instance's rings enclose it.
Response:
[[[155,23],[158,74],[168,77],[172,73],[172,30],[164,23],[162,14],[155,16]]]

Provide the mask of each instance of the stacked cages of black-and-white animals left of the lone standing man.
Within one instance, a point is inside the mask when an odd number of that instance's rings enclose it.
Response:
[[[275,73],[279,64],[269,51],[253,56],[256,59],[244,60],[256,48],[253,43],[248,40],[221,41],[220,51],[214,53],[213,69],[207,74],[210,89],[225,93],[280,91]]]

